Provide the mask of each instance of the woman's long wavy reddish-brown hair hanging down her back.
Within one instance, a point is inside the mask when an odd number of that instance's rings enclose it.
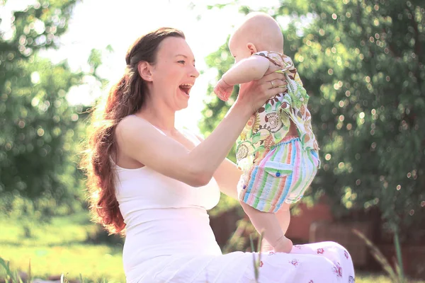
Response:
[[[93,220],[110,233],[124,233],[125,223],[115,197],[115,171],[111,156],[116,156],[115,127],[124,117],[134,114],[147,98],[147,85],[138,71],[139,62],[155,64],[160,43],[166,37],[185,36],[181,30],[159,28],[139,37],[125,55],[123,78],[111,88],[106,100],[91,112],[88,138],[81,161],[86,173],[89,208]]]

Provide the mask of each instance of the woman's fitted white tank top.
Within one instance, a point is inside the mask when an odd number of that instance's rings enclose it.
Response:
[[[196,144],[199,141],[188,136]],[[126,224],[123,264],[126,274],[153,258],[170,255],[220,255],[207,209],[220,200],[214,178],[191,187],[145,166],[115,165],[115,195]]]

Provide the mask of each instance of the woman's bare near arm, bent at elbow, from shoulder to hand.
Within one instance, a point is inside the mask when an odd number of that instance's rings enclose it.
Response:
[[[118,152],[188,185],[205,185],[229,153],[249,117],[267,99],[280,92],[279,88],[270,88],[270,81],[284,86],[283,79],[283,74],[272,73],[242,87],[226,117],[192,151],[160,133],[149,122],[129,116],[115,129]]]

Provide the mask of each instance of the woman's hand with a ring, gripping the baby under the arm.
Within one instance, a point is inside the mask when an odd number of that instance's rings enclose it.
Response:
[[[235,103],[249,108],[252,114],[259,110],[268,99],[281,93],[282,87],[286,86],[286,83],[285,74],[276,72],[265,75],[258,81],[242,83]]]

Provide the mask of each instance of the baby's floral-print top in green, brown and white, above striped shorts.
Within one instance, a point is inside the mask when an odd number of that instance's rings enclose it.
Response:
[[[280,67],[277,72],[285,74],[288,84],[282,88],[282,93],[267,100],[242,130],[237,140],[237,165],[244,171],[262,156],[261,151],[275,146],[288,134],[291,120],[297,128],[302,148],[319,150],[307,109],[309,96],[290,57],[266,51],[253,56],[266,57]]]

